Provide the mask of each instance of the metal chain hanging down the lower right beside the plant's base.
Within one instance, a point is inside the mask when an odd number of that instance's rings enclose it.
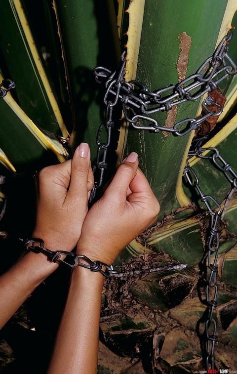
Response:
[[[202,140],[203,141],[203,140]],[[201,141],[201,142],[202,142]],[[214,163],[214,166],[222,171],[227,180],[231,183],[232,189],[237,188],[237,174],[233,170],[231,164],[227,163],[219,154],[217,148],[201,148],[200,141],[198,142],[199,146],[195,147],[194,151],[189,152],[189,157],[197,156],[203,159],[211,160]],[[205,151],[210,151],[208,156],[204,156]],[[214,348],[217,341],[216,335],[216,321],[213,318],[214,309],[217,307],[217,260],[218,260],[218,249],[219,249],[219,231],[217,229],[219,219],[221,217],[222,208],[220,204],[213,198],[211,195],[206,195],[199,186],[199,180],[197,174],[193,167],[190,166],[189,161],[186,162],[186,167],[184,169],[184,175],[187,178],[188,183],[191,187],[196,188],[200,201],[203,202],[210,214],[210,229],[209,236],[206,242],[206,251],[207,251],[207,267],[210,270],[209,278],[206,280],[206,302],[209,305],[208,317],[205,321],[205,365],[208,370],[209,366],[211,369],[214,369]],[[218,163],[218,161],[220,163]],[[210,203],[214,203],[214,208],[211,208]],[[213,205],[213,204],[212,204]]]

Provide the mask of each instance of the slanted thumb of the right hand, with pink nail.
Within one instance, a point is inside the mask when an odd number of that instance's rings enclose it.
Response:
[[[117,194],[121,198],[126,198],[128,187],[134,178],[138,168],[138,158],[135,152],[132,152],[116,171],[116,174],[105,191],[105,195],[109,193]]]

